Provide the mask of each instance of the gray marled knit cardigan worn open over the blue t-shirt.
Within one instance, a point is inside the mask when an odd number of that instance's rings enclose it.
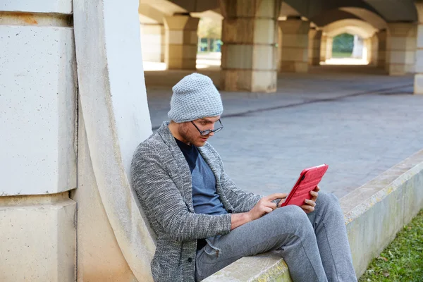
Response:
[[[154,281],[195,281],[197,239],[231,231],[231,213],[247,212],[260,199],[243,192],[228,178],[216,150],[198,148],[216,177],[216,192],[228,214],[195,214],[188,163],[164,122],[142,142],[133,157],[133,188],[157,235],[152,259]]]

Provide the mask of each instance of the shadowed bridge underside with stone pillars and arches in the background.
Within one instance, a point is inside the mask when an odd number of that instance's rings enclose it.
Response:
[[[415,74],[414,91],[423,92],[419,3],[391,0],[390,8],[374,0],[255,3],[140,0],[143,60],[169,70],[198,70],[197,27],[199,18],[209,18],[221,25],[220,89],[276,92],[278,73],[307,73],[326,63],[333,37],[350,33],[360,37],[364,62],[386,75]]]

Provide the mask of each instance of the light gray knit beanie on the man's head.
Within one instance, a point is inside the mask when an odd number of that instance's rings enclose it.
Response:
[[[168,117],[176,123],[220,116],[223,113],[219,91],[206,75],[187,75],[176,83],[172,90],[171,111],[168,112]]]

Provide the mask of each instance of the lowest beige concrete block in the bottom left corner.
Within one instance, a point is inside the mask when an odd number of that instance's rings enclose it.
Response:
[[[76,279],[76,202],[68,192],[0,197],[1,282]]]

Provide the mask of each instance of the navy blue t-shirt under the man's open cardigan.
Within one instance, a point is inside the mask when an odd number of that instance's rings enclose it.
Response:
[[[180,151],[190,166],[192,176],[192,204],[196,214],[227,214],[216,192],[216,178],[197,147],[176,139]]]

